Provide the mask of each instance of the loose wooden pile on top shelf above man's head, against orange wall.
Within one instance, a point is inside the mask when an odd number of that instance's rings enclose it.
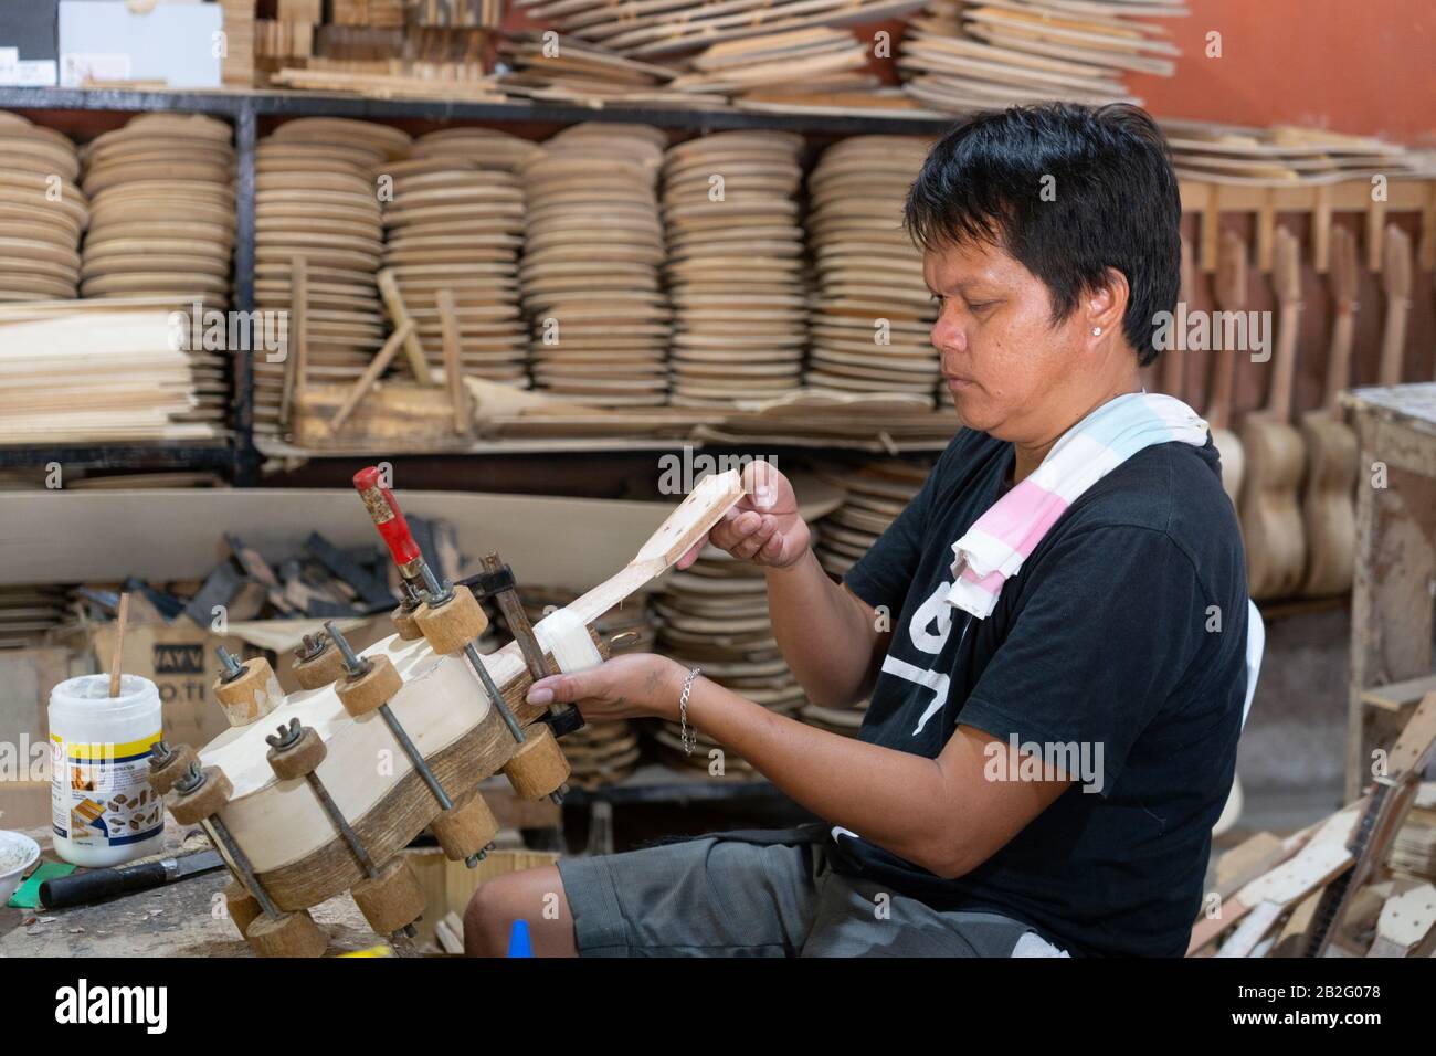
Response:
[[[1014,103],[1140,103],[1127,72],[1172,76],[1180,55],[1165,26],[1185,0],[945,0],[912,20],[898,69],[903,89],[951,114]]]

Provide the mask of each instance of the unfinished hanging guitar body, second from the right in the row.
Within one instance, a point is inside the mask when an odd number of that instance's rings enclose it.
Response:
[[[1284,422],[1248,420],[1246,487],[1242,493],[1242,539],[1251,596],[1295,593],[1305,569],[1307,543],[1297,490],[1305,470],[1301,434]]]

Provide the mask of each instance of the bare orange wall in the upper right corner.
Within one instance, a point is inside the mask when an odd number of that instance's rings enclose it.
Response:
[[[1175,78],[1130,75],[1155,116],[1292,122],[1436,147],[1433,0],[1189,0]],[[1222,57],[1205,37],[1222,34]]]

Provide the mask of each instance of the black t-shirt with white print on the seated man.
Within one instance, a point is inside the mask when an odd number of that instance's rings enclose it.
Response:
[[[975,619],[943,601],[952,543],[1002,494],[1012,461],[1011,444],[961,431],[844,578],[892,613],[860,736],[929,759],[958,724],[1004,743],[1086,746],[1048,756],[1078,783],[956,879],[843,829],[834,869],[939,909],[1005,914],[1074,955],[1182,955],[1246,693],[1246,569],[1216,448],[1134,454],[1073,503]]]

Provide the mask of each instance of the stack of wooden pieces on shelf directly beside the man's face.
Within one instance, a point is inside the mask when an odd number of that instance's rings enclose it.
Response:
[[[941,376],[928,336],[936,309],[922,253],[902,226],[928,148],[909,136],[853,136],[829,147],[808,177],[819,274],[810,388],[932,399]]]

